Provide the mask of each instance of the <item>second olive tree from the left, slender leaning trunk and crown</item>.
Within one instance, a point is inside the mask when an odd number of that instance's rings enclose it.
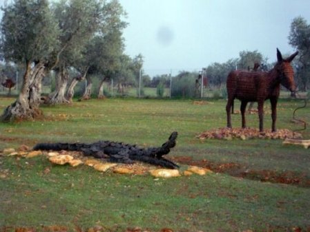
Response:
[[[61,29],[59,41],[64,51],[59,56],[55,91],[48,96],[49,104],[69,103],[66,99],[68,68],[81,59],[88,40],[104,23],[105,5],[106,2],[101,0],[61,0],[55,3],[55,17]]]

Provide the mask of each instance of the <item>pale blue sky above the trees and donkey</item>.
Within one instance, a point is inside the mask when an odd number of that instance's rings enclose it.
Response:
[[[119,0],[127,12],[126,54],[144,56],[144,73],[177,74],[238,58],[248,50],[276,60],[291,54],[295,17],[310,24],[309,0]]]

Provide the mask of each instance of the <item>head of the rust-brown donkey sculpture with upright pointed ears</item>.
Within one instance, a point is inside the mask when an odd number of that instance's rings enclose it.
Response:
[[[298,52],[291,54],[287,59],[282,58],[281,52],[277,48],[277,58],[278,63],[275,65],[278,71],[278,77],[280,78],[280,83],[284,85],[289,91],[291,91],[291,96],[296,94],[296,85],[294,81],[294,70],[291,66],[291,61],[297,56]]]

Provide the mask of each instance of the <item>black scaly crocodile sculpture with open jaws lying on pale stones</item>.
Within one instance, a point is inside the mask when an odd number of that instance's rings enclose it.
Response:
[[[147,162],[171,169],[179,168],[174,162],[163,158],[175,147],[177,132],[173,132],[162,147],[140,148],[137,145],[98,141],[96,143],[38,143],[33,150],[82,151],[84,156],[93,156],[108,162],[132,164],[133,160]]]

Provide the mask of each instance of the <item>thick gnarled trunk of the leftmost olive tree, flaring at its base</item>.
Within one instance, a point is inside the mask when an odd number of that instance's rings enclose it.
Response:
[[[26,72],[23,75],[23,84],[17,100],[8,106],[0,116],[2,122],[10,122],[15,119],[33,119],[41,115],[39,109],[41,101],[41,81],[45,76],[45,66],[43,63],[26,64]]]

